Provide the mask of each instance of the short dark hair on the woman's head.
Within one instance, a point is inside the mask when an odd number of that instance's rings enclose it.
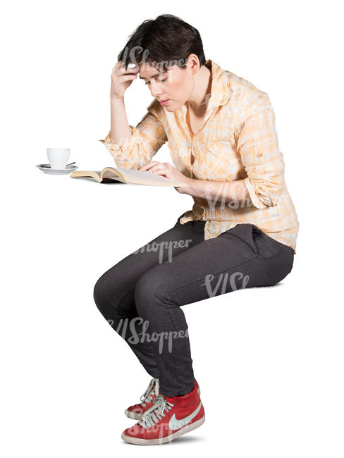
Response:
[[[129,37],[118,54],[125,68],[144,62],[163,70],[173,65],[186,68],[190,54],[197,55],[200,66],[206,62],[198,30],[172,14],[143,21]]]

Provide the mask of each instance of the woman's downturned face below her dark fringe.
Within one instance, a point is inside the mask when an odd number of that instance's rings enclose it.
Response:
[[[167,111],[180,109],[195,86],[189,68],[174,65],[168,67],[167,70],[161,70],[150,66],[149,63],[142,63],[139,73],[153,97],[160,102],[168,100],[166,104],[163,104]]]

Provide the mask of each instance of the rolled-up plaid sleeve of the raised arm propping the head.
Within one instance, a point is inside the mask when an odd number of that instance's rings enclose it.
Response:
[[[113,143],[110,132],[102,142],[109,149],[116,166],[122,168],[141,168],[152,160],[156,151],[168,140],[164,125],[154,114],[154,102],[147,107],[147,113],[132,129],[132,135],[124,144]],[[152,111],[151,111],[152,109]]]

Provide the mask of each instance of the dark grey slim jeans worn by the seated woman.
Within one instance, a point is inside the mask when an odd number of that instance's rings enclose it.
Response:
[[[173,228],[109,268],[94,286],[99,311],[146,371],[159,378],[160,391],[168,397],[185,395],[194,386],[188,325],[180,306],[275,285],[294,260],[293,248],[256,225],[238,224],[204,240],[205,221],[180,224],[180,217]]]

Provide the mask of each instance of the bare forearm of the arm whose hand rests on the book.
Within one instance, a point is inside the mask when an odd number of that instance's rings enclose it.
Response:
[[[244,180],[222,182],[189,178],[188,185],[185,194],[209,199],[211,202],[251,202]]]

